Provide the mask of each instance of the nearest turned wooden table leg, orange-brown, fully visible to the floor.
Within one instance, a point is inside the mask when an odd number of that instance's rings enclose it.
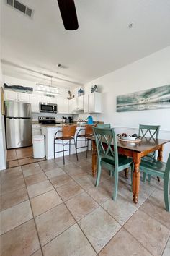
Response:
[[[133,153],[133,202],[138,203],[139,187],[140,187],[140,153]]]

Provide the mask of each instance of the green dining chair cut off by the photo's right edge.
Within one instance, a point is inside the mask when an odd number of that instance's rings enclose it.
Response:
[[[152,158],[151,161],[143,159],[140,163],[140,170],[143,171],[144,174],[164,179],[164,202],[165,208],[169,212],[170,154],[167,163],[157,161],[154,158]]]

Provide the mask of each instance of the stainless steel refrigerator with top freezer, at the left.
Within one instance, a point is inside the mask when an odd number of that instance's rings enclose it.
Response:
[[[6,148],[32,145],[31,104],[5,101]]]

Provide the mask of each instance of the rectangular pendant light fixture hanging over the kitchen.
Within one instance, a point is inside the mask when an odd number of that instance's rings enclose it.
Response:
[[[37,83],[37,88],[35,89],[36,92],[39,93],[47,93],[50,95],[60,95],[60,93],[58,93],[58,89],[54,86],[52,86],[52,76],[48,75],[48,74],[43,74],[44,75],[44,84],[40,84]],[[46,77],[50,77],[50,85],[46,85]]]

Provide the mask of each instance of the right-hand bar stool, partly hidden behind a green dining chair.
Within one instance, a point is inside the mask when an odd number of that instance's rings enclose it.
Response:
[[[90,124],[86,124],[85,125],[85,129],[80,129],[79,132],[77,132],[77,136],[76,136],[76,149],[79,148],[86,148],[86,158],[87,158],[87,152],[89,149],[89,140],[87,140],[88,137],[91,137],[93,135],[93,127],[94,125],[90,125]],[[84,131],[84,134],[80,135],[79,133]],[[81,147],[77,147],[77,142],[78,141],[82,141],[82,140],[78,140],[79,137],[84,137],[84,141],[85,141],[85,145],[81,146]]]

